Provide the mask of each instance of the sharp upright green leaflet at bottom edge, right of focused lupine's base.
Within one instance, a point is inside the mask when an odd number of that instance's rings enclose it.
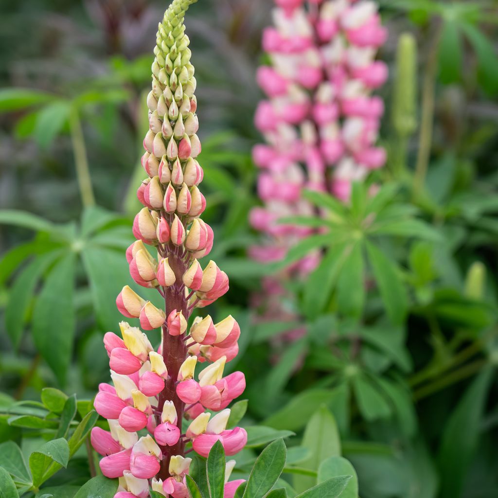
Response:
[[[277,482],[285,466],[287,448],[283,439],[270,443],[257,457],[249,474],[245,498],[262,498]]]

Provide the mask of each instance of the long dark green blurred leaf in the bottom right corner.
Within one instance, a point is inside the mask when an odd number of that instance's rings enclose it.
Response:
[[[446,422],[438,459],[441,498],[461,496],[481,435],[482,419],[493,378],[493,369],[485,368],[474,379]]]

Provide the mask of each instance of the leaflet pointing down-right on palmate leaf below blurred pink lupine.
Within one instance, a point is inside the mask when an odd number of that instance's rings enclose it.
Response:
[[[387,314],[393,324],[400,324],[406,316],[408,296],[397,268],[370,242],[367,242],[367,253]]]

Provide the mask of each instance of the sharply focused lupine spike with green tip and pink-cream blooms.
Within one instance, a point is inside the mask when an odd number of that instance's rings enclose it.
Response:
[[[220,440],[233,455],[247,441],[244,429],[226,429],[227,406],[245,388],[243,373],[223,376],[226,362],[238,352],[238,323],[229,316],[215,324],[207,315],[189,326],[195,308],[229,288],[214,261],[204,269],[198,261],[213,247],[213,230],[199,218],[206,207],[198,188],[204,173],[196,159],[201,151],[196,79],[183,25],[194,1],[174,0],[159,24],[147,97],[150,129],[141,160],[148,176],[137,190],[144,208],[133,223],[137,241],[126,250],[133,280],[156,289],[164,306],[124,286],[118,309],[139,319],[140,328],[122,322],[121,337],[113,332],[104,337],[113,385],[100,385],[94,406],[108,419],[110,431],[94,428],[91,442],[104,457],[102,473],[120,478],[116,498],[146,498],[149,484],[164,496],[186,498],[190,445],[206,456]],[[154,348],[141,329],[159,327],[162,341]],[[196,373],[197,363],[205,362]],[[206,409],[222,411],[210,421]],[[184,419],[192,420],[186,434]],[[148,433],[139,437],[138,431]],[[230,495],[235,484],[227,486]]]

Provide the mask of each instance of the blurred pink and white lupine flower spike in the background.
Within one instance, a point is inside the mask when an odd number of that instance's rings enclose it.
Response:
[[[387,78],[386,65],[374,60],[386,39],[376,2],[275,3],[273,26],[262,38],[271,66],[257,72],[267,97],[255,114],[266,143],[253,149],[263,207],[250,215],[271,241],[252,249],[254,258],[266,261],[281,259],[309,235],[306,227],[276,223],[313,212],[301,198],[303,188],[346,201],[351,182],[385,162],[385,151],[375,146],[383,103],[372,96]],[[312,268],[313,256],[299,267]]]

